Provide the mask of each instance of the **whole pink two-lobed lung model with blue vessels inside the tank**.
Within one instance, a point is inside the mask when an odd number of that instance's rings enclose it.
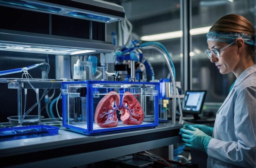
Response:
[[[117,109],[124,124],[138,125],[144,120],[143,109],[133,94],[125,92],[120,100],[119,94],[111,91],[99,101],[94,116],[95,123],[102,128],[117,127]]]

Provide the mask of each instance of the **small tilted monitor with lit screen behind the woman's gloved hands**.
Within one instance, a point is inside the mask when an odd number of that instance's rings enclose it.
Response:
[[[183,99],[182,111],[184,113],[200,113],[204,105],[205,96],[206,90],[186,91],[186,94]]]

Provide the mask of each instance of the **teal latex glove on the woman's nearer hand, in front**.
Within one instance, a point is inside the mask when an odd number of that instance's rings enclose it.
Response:
[[[195,149],[205,149],[206,151],[212,138],[192,125],[186,125],[184,128],[180,129],[179,134],[182,136],[182,140],[185,142],[186,146]]]

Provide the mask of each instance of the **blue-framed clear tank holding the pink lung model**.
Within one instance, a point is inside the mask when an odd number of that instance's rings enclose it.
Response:
[[[159,83],[62,82],[63,127],[97,135],[158,125]]]

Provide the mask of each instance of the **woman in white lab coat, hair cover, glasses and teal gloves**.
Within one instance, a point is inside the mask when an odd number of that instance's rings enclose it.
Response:
[[[207,34],[205,50],[221,74],[236,76],[216,114],[214,128],[184,125],[186,146],[205,149],[208,168],[256,167],[256,65],[254,26],[241,15],[221,17]]]

